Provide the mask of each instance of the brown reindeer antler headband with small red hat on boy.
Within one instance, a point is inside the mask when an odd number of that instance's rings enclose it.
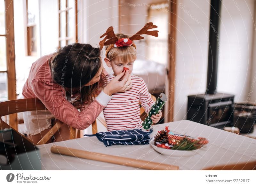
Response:
[[[153,25],[153,23],[150,22],[150,23],[147,23],[142,29],[140,29],[139,32],[132,35],[130,39],[128,38],[118,39],[116,37],[116,34],[114,33],[113,27],[108,27],[106,33],[100,36],[100,38],[106,36],[102,41],[100,41],[100,50],[102,50],[104,45],[106,46],[111,44],[111,46],[109,46],[108,49],[106,50],[106,57],[108,57],[108,52],[113,48],[124,47],[124,46],[133,46],[136,48],[136,45],[132,41],[144,39],[144,37],[140,35],[147,34],[147,35],[153,35],[155,37],[158,37],[158,32],[159,32],[158,30],[148,31],[148,29],[152,29],[152,28],[157,28],[157,26]],[[106,41],[107,39],[108,41]]]

